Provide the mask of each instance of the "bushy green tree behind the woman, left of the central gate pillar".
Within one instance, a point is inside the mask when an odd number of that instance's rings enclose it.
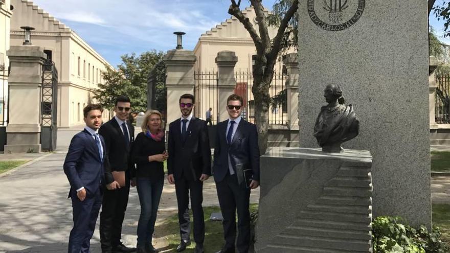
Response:
[[[148,75],[158,65],[161,69],[157,70],[159,85],[156,88],[156,109],[164,111],[166,103],[164,66],[158,64],[164,55],[164,52],[152,50],[139,56],[135,53],[121,56],[122,63],[117,66],[117,71],[107,68],[107,72],[102,74],[105,82],[98,84],[94,98],[104,107],[112,109],[117,96],[127,95],[131,100],[133,112],[146,111]]]

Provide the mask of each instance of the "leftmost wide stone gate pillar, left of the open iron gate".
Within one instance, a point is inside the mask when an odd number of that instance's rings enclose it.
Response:
[[[42,65],[46,54],[33,45],[13,46],[7,51],[9,123],[5,153],[40,152]]]

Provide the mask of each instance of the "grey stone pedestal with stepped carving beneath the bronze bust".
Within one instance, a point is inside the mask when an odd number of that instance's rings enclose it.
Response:
[[[365,150],[269,148],[256,252],[372,252],[371,167]]]

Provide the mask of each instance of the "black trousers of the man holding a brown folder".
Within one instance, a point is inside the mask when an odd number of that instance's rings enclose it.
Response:
[[[110,251],[120,243],[122,223],[130,192],[129,180],[126,186],[116,190],[103,191],[102,212],[100,213],[100,242],[102,251]]]

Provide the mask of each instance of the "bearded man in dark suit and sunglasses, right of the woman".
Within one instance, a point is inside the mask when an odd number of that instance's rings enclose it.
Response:
[[[195,253],[203,253],[205,220],[201,203],[203,181],[211,175],[211,149],[208,128],[204,120],[192,115],[194,96],[184,94],[179,98],[182,116],[170,123],[168,138],[167,179],[175,184],[178,202],[178,221],[181,243],[176,250],[186,249],[190,240],[189,194],[194,218]]]

